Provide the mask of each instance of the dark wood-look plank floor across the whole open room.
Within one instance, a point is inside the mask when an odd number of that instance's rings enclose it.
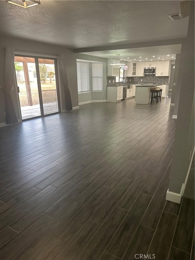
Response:
[[[169,105],[92,103],[3,127],[1,259],[190,260],[194,201],[165,200]]]

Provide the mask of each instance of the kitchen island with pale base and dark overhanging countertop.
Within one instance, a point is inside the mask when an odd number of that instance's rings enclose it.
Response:
[[[135,102],[137,104],[148,104],[150,103],[151,98],[151,89],[157,86],[161,86],[162,84],[142,84],[136,85],[135,91]]]

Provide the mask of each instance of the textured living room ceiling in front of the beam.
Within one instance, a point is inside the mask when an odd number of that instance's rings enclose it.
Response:
[[[23,9],[0,1],[1,34],[88,48],[187,36],[188,17],[172,21],[180,1],[57,1]]]

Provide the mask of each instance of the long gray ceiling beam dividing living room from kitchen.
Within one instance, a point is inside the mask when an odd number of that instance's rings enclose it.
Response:
[[[138,42],[138,43],[130,43],[130,44],[80,48],[80,49],[72,49],[72,51],[74,53],[79,53],[79,52],[98,52],[98,51],[131,49],[131,48],[133,49],[133,48],[144,48],[144,47],[182,44],[185,41],[186,41],[186,38],[178,38],[178,39],[169,39],[169,40],[161,40],[161,41],[147,41],[147,42]]]

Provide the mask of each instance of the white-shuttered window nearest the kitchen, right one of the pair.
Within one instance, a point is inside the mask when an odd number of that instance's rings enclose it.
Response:
[[[103,90],[103,63],[92,63],[92,91]]]

